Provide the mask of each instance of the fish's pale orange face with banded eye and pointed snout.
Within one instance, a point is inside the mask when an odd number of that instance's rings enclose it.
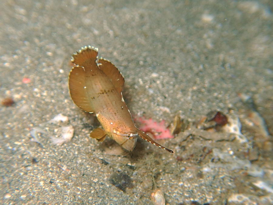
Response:
[[[123,149],[132,152],[136,146],[137,133],[113,133],[112,138],[115,140]]]

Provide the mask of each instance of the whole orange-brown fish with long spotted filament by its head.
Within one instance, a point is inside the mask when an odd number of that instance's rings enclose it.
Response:
[[[123,76],[116,66],[107,60],[101,58],[96,63],[97,55],[98,49],[91,46],[85,46],[74,53],[71,61],[77,66],[69,73],[69,93],[72,100],[82,110],[94,112],[104,129],[94,129],[90,137],[101,142],[108,135],[123,149],[133,151],[137,136],[140,136],[174,153],[136,128],[122,97]]]

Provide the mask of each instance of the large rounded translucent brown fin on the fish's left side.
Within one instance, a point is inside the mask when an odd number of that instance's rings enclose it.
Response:
[[[86,112],[94,112],[85,85],[85,71],[83,67],[73,67],[68,78],[69,93],[73,102]]]

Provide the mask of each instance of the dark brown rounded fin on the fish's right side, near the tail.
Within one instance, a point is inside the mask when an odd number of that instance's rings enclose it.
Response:
[[[99,59],[99,68],[112,81],[118,93],[121,93],[124,84],[124,78],[120,73],[119,69],[114,66],[113,63],[111,63],[110,61],[102,58]]]

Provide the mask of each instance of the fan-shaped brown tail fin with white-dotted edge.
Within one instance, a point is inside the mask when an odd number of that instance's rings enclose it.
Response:
[[[74,53],[72,55],[72,59],[71,62],[79,65],[79,66],[83,66],[84,62],[86,62],[86,60],[95,60],[97,59],[98,56],[98,49],[91,47],[91,46],[85,46],[82,47],[82,50],[79,50],[79,52]]]

